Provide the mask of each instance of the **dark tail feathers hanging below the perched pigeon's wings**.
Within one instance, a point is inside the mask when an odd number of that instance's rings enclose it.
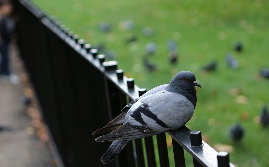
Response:
[[[109,146],[109,148],[106,150],[105,154],[101,157],[100,161],[103,164],[110,163],[117,157],[118,154],[120,154],[120,151],[123,149],[123,147],[126,145],[128,141],[129,140],[113,141],[112,144]]]

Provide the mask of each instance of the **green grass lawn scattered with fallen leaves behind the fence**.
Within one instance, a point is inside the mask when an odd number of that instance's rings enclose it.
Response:
[[[179,71],[195,73],[203,88],[197,89],[195,114],[186,125],[191,130],[201,130],[210,146],[233,146],[230,161],[237,166],[269,166],[269,129],[263,129],[257,121],[262,106],[269,103],[269,80],[257,76],[262,67],[269,67],[268,1],[33,1],[87,43],[103,42],[106,49],[113,50],[118,67],[135,78],[141,88],[149,90],[169,83]],[[135,23],[134,30],[120,28],[125,20]],[[111,32],[100,30],[102,21],[112,25]],[[142,34],[146,26],[153,29],[153,36]],[[138,41],[127,45],[126,39],[132,35],[137,35]],[[169,38],[178,46],[179,62],[175,65],[169,64],[167,58]],[[149,59],[157,70],[148,72],[143,56],[146,44],[152,41],[157,51]],[[233,51],[237,41],[243,44],[242,53]],[[239,61],[238,69],[227,67],[228,53]],[[201,67],[212,60],[218,62],[217,70],[201,72]],[[238,91],[231,95],[233,88]],[[230,126],[237,122],[245,129],[241,143],[233,143],[229,135]]]

